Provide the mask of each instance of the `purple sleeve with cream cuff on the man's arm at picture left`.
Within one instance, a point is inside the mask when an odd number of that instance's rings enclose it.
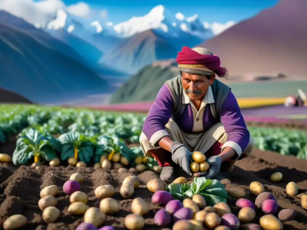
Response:
[[[168,87],[164,84],[159,90],[155,102],[151,106],[144,121],[142,132],[153,146],[164,136],[169,136],[165,125],[173,113],[173,97]]]

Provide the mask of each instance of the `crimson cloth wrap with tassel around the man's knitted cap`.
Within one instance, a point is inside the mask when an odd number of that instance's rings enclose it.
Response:
[[[216,72],[220,77],[227,77],[228,71],[221,67],[221,60],[216,55],[200,54],[187,46],[178,52],[176,61],[178,64],[200,64]]]

